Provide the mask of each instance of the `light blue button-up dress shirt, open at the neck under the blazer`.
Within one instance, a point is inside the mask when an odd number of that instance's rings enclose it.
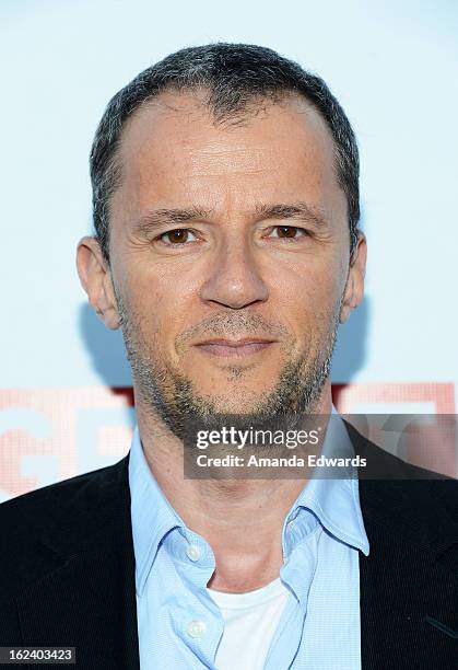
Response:
[[[338,416],[322,452],[329,453],[333,444],[353,451]],[[129,486],[141,670],[214,669],[224,629],[222,614],[205,590],[214,555],[165,498],[145,460],[138,428],[130,450]],[[307,482],[284,520],[282,545],[280,578],[290,596],[266,670],[359,670],[359,551],[368,555],[369,547],[357,478]]]

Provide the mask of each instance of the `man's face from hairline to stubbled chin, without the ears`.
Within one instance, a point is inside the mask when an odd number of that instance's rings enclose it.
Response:
[[[292,96],[215,125],[168,92],[129,119],[119,159],[110,265],[137,393],[168,424],[313,409],[354,301],[320,115]]]

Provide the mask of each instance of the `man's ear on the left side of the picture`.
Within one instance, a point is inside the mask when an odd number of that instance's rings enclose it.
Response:
[[[81,285],[97,316],[116,331],[120,325],[111,274],[95,238],[83,238],[77,250],[77,267]]]

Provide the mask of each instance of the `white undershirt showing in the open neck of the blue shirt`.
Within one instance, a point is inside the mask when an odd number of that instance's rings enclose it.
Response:
[[[289,596],[280,577],[247,593],[207,591],[224,619],[215,659],[218,670],[262,670]]]

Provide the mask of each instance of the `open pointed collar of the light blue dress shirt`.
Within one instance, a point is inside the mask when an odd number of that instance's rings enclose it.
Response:
[[[344,424],[332,406],[332,420],[325,438],[322,453],[330,453],[339,444],[353,453]],[[137,592],[143,592],[153,566],[160,543],[173,529],[189,540],[191,533],[162,493],[146,462],[138,426],[132,436],[129,454],[129,487],[131,497],[132,540],[136,556]],[[368,541],[364,529],[359,498],[357,478],[313,477],[304,486],[286,516],[283,525],[283,547],[291,553],[301,535],[309,532],[309,513],[317,517],[321,525],[338,541],[360,548],[368,555]],[[298,532],[291,536],[286,525],[295,521]],[[293,539],[292,539],[293,538]]]

